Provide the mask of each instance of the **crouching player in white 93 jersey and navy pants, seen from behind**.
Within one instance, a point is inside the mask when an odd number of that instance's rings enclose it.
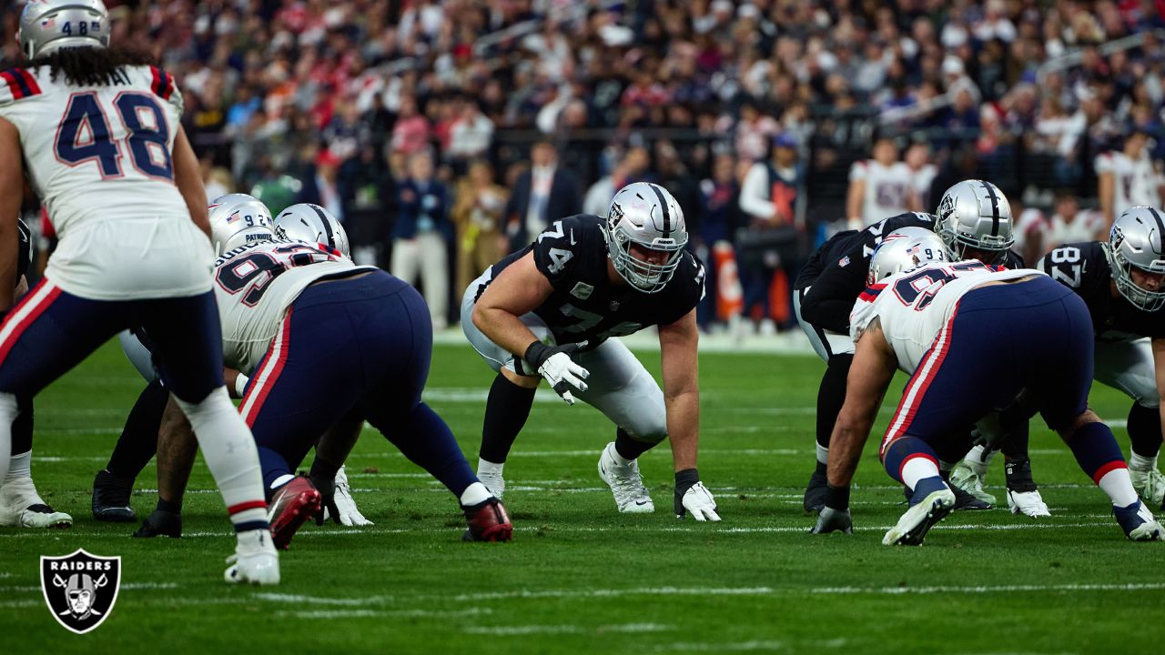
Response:
[[[1165,537],[1137,498],[1111,430],[1088,409],[1093,334],[1083,301],[1038,270],[945,261],[938,254],[942,241],[919,232],[883,241],[870,263],[881,282],[854,305],[854,362],[829,449],[829,495],[813,531],[852,530],[849,483],[901,367],[911,376],[880,455],[887,473],[911,498],[883,544],[923,543],[954,508],[938,463],[966,452],[972,438],[965,427],[994,408],[1007,408],[1022,389],[1031,397],[1026,410],[1043,415],[1108,494],[1125,536]],[[883,277],[885,273],[892,275]],[[1008,325],[1007,339],[998,338],[1001,321]]]

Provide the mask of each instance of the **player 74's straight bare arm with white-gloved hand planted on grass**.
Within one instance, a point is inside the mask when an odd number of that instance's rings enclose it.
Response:
[[[700,448],[699,340],[694,309],[679,321],[659,326],[663,399],[676,467],[675,509],[677,517],[691,513],[697,521],[719,521],[715,499],[700,483],[696,469]]]

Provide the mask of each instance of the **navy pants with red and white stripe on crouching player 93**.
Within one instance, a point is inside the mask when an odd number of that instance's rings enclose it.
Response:
[[[917,437],[958,462],[970,448],[967,425],[1022,388],[1051,428],[1066,428],[1088,408],[1092,380],[1092,318],[1072,289],[1043,275],[973,289],[906,382],[882,456]]]

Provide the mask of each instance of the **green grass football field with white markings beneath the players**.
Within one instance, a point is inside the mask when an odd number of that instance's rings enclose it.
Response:
[[[657,354],[641,357],[658,372]],[[375,526],[304,527],[282,556],[283,583],[256,589],[221,580],[233,537],[202,464],[184,538],[137,541],[133,526],[92,521],[93,473],[142,386],[106,346],[37,399],[34,476],[76,523],[0,528],[3,653],[1113,653],[1165,636],[1165,544],[1125,541],[1107,499],[1042,425],[1032,459],[1050,520],[956,513],[922,548],[883,547],[902,493],[869,445],[855,534],[810,536],[800,498],[822,364],[700,364],[700,473],[721,523],[676,520],[666,446],[641,460],[657,512],[617,514],[595,473],[613,427],[539,396],[506,469],[511,543],[460,542],[456,500],[368,430],[348,471]],[[437,348],[428,399],[473,463],[490,379],[468,346]],[[1109,418],[1128,410],[1107,388],[1093,406]],[[1001,466],[988,483],[1003,500]],[[140,515],[154,486],[151,465],[134,495]],[[84,636],[49,615],[38,578],[41,555],[78,547],[122,557],[116,606]]]

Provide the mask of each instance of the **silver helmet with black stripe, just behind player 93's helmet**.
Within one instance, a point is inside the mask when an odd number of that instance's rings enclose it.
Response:
[[[958,259],[1000,263],[1016,239],[1011,227],[1011,203],[998,186],[982,179],[963,179],[942,193],[934,232]]]

